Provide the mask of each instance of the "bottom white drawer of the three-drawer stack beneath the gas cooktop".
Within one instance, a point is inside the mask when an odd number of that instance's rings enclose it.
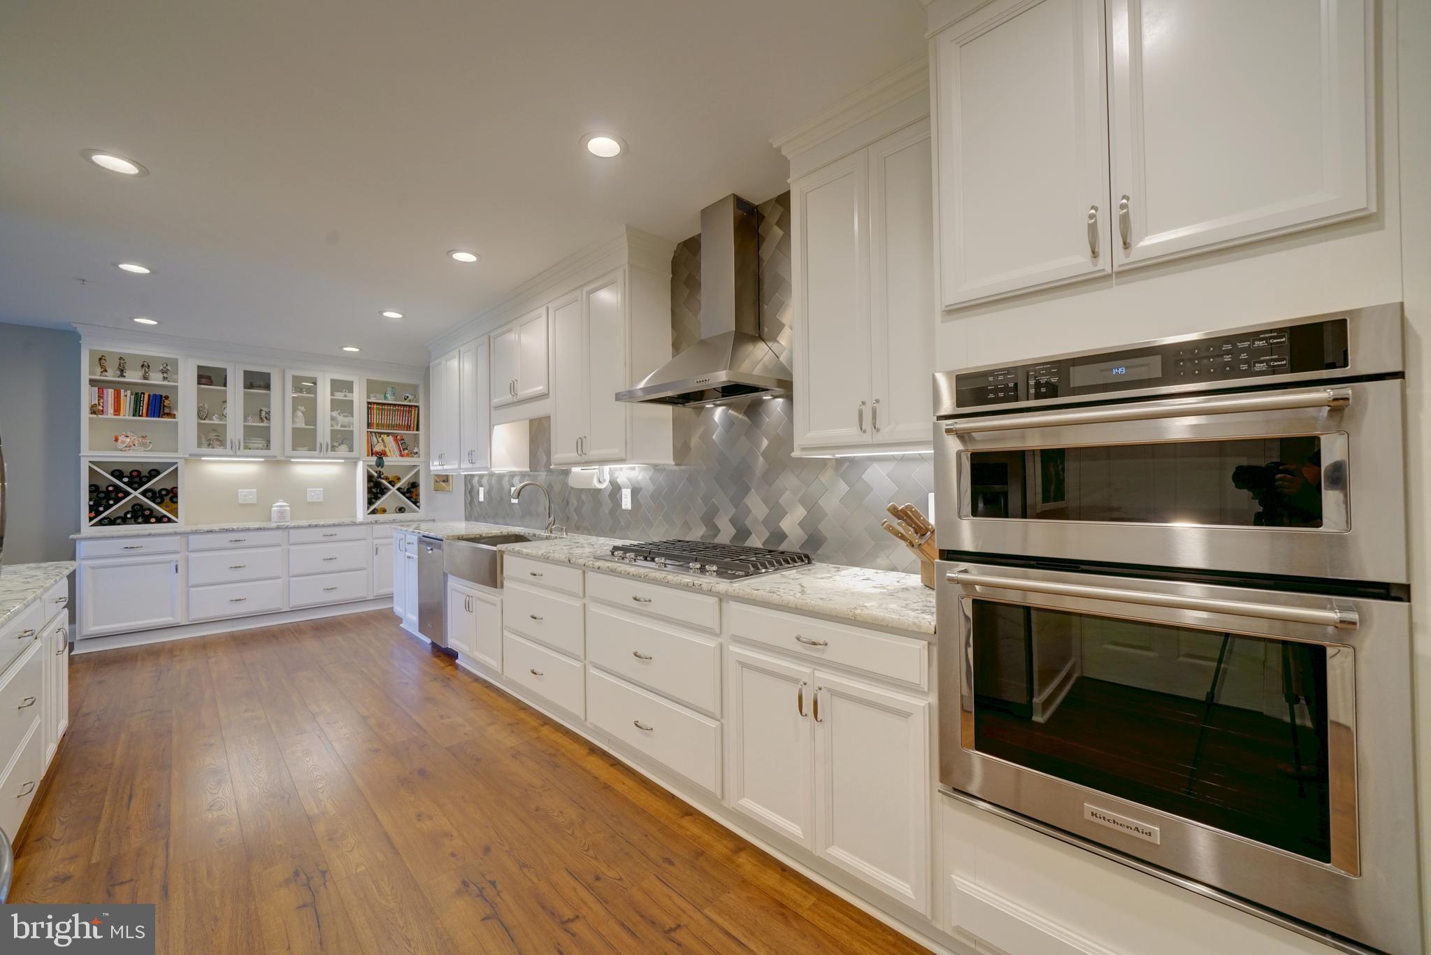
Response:
[[[720,795],[720,723],[601,670],[587,670],[587,719]]]

